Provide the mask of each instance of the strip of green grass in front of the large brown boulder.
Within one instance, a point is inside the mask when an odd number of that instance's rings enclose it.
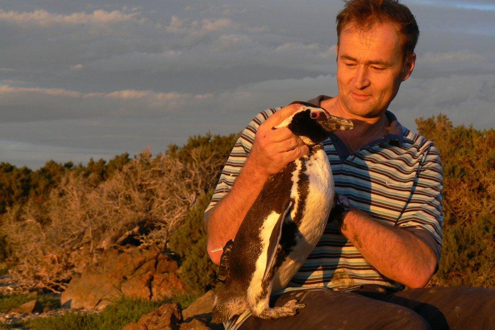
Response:
[[[33,330],[121,330],[129,322],[139,320],[141,315],[157,309],[162,304],[175,302],[186,308],[197,296],[195,294],[183,294],[158,302],[124,297],[99,314],[71,313],[46,318],[40,317],[29,320],[26,326]]]

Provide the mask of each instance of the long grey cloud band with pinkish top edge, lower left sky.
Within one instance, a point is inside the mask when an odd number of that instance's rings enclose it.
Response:
[[[0,121],[30,122],[63,118],[162,116],[198,106],[210,94],[119,90],[80,92],[64,88],[0,86]]]

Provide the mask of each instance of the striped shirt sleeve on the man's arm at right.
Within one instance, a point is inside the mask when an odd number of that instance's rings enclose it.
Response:
[[[442,248],[442,164],[433,142],[428,141],[423,147],[425,154],[417,170],[416,183],[397,226],[425,242],[438,262]]]

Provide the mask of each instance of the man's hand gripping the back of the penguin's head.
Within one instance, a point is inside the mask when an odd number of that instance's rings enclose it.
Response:
[[[258,174],[270,176],[283,170],[288,163],[309,153],[309,147],[287,127],[273,129],[301,107],[291,104],[281,108],[258,127],[246,166]]]

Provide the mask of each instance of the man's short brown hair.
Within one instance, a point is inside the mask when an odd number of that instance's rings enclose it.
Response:
[[[346,0],[345,7],[337,15],[337,40],[348,23],[354,23],[360,29],[367,30],[377,23],[391,22],[399,27],[402,36],[402,54],[404,59],[414,53],[419,37],[419,28],[409,8],[399,0]]]

